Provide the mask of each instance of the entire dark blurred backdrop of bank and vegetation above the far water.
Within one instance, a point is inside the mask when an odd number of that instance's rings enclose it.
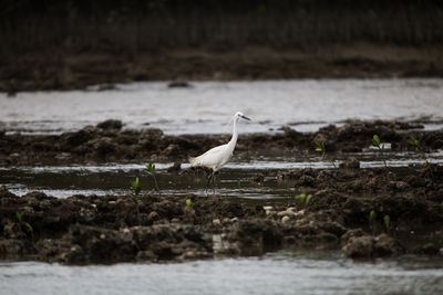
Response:
[[[0,91],[443,76],[439,0],[0,1]]]

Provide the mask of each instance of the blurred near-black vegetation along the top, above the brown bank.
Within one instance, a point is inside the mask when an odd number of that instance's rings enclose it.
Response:
[[[436,0],[3,0],[0,11],[2,50],[443,41]]]

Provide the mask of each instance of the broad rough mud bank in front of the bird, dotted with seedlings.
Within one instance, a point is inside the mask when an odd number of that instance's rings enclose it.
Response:
[[[291,181],[293,197],[251,202],[142,193],[134,199],[128,191],[59,199],[41,192],[17,197],[1,187],[0,255],[107,264],[249,256],[280,249],[341,250],[353,259],[443,252],[441,166],[352,166],[275,176]]]

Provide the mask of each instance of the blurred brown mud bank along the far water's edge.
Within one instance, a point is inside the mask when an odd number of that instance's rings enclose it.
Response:
[[[442,46],[351,42],[272,48],[188,46],[3,53],[0,92],[84,89],[137,81],[442,77]]]

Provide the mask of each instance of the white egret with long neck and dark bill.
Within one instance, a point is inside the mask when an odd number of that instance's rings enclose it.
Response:
[[[225,164],[227,164],[233,157],[233,152],[235,146],[237,145],[237,138],[238,138],[237,122],[240,118],[250,120],[250,118],[246,117],[241,112],[235,113],[235,115],[231,118],[231,120],[234,122],[234,128],[233,128],[233,137],[230,138],[229,143],[214,147],[198,157],[195,158],[189,157],[190,167],[206,167],[212,170],[212,173],[209,173],[206,183],[206,191],[205,191],[206,194],[210,179],[213,179],[213,194],[215,194],[214,175],[215,172],[220,170],[222,167],[225,166]]]

